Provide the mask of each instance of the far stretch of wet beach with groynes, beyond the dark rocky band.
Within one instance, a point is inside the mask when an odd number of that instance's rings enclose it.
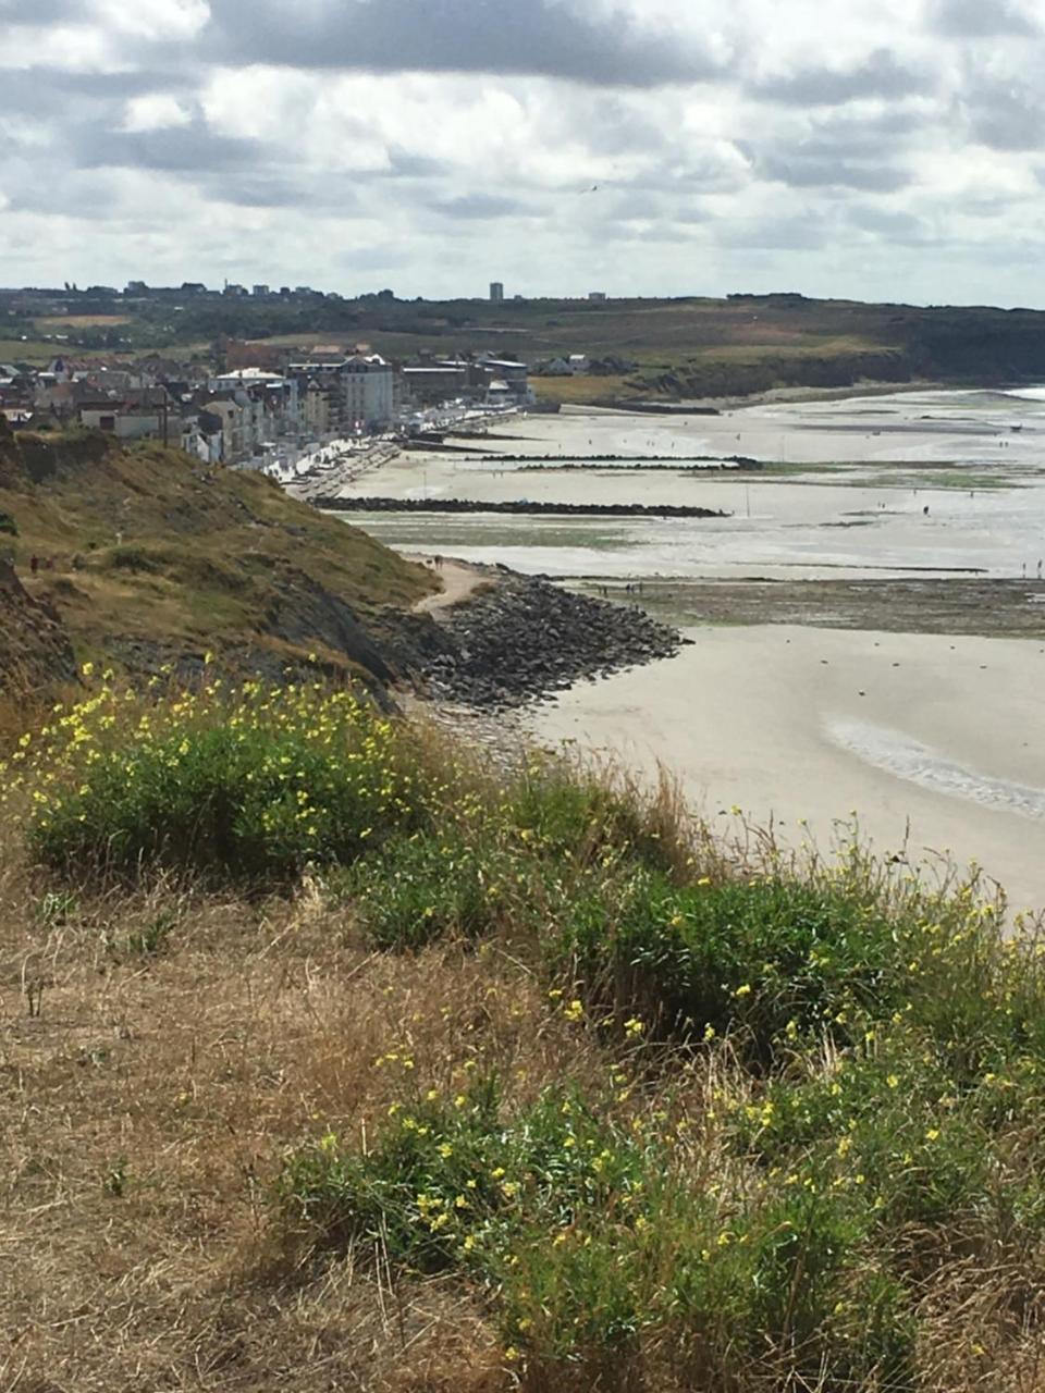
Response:
[[[1013,428],[1019,426],[1019,430]],[[908,393],[850,401],[773,404],[720,417],[637,417],[575,411],[514,421],[482,442],[485,454],[410,453],[344,493],[500,503],[684,503],[725,520],[575,521],[496,517],[353,521],[401,549],[439,547],[529,574],[638,577],[751,575],[794,579],[981,570],[1037,574],[1045,560],[1045,401],[1000,393]],[[783,475],[642,460],[741,454],[786,461]],[[563,469],[613,456],[603,469]],[[620,468],[620,462],[631,468]],[[928,513],[927,513],[928,508]]]

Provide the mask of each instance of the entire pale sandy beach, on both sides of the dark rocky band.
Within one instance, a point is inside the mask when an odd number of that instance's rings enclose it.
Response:
[[[677,657],[532,710],[535,738],[647,773],[660,762],[723,830],[736,805],[794,847],[808,834],[828,847],[856,809],[878,851],[907,839],[935,869],[977,861],[1013,912],[1045,908],[1045,393],[573,411],[478,444],[405,456],[350,488],[732,511],[353,517],[404,550],[548,573],[686,628]],[[775,472],[649,467],[732,454]],[[563,468],[596,457],[613,462]]]

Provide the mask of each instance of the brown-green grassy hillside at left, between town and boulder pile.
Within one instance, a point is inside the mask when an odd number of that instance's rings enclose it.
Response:
[[[385,683],[393,674],[372,624],[436,584],[272,481],[100,432],[0,426],[4,517],[0,645],[31,656],[39,631],[33,681],[70,676],[75,649],[77,662],[132,673],[187,676],[213,651],[226,667],[269,677],[319,667]],[[0,646],[0,683],[11,685],[20,669],[7,653]]]

